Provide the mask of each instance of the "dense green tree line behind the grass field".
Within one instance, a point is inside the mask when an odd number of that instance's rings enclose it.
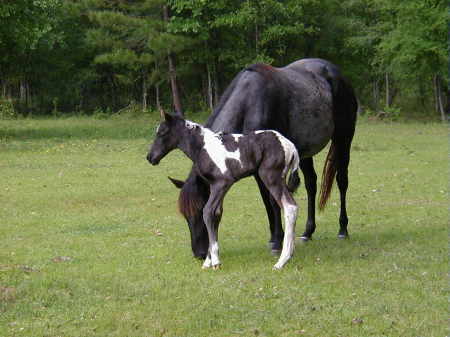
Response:
[[[444,119],[447,21],[443,0],[3,0],[0,102],[207,110],[249,64],[319,57],[366,111]]]

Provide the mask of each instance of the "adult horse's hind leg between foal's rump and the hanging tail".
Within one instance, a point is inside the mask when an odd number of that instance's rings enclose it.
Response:
[[[314,170],[314,162],[311,158],[300,159],[300,169],[305,180],[306,193],[308,195],[308,218],[306,220],[305,232],[300,237],[303,241],[311,240],[316,230],[316,192],[317,174]]]

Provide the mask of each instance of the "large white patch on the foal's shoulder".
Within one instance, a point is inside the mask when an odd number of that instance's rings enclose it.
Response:
[[[227,159],[237,160],[242,166],[241,153],[239,152],[239,149],[233,152],[227,151],[220,137],[207,128],[202,127],[202,135],[203,141],[205,142],[204,149],[222,174],[225,174],[227,171]],[[239,136],[236,137],[233,135],[233,137],[236,141],[239,139]]]

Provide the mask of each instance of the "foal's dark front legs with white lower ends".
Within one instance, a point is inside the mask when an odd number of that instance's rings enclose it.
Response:
[[[208,255],[203,263],[203,268],[213,267],[218,269],[220,266],[218,231],[220,219],[222,218],[223,198],[230,186],[224,183],[210,186],[209,199],[203,208],[203,221],[205,222],[209,238]]]

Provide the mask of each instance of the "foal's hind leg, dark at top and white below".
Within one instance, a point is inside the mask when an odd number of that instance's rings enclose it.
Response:
[[[289,192],[281,171],[274,169],[260,168],[259,176],[276,200],[284,215],[284,239],[283,249],[275,269],[282,268],[294,254],[295,248],[295,221],[297,219],[297,203]]]

